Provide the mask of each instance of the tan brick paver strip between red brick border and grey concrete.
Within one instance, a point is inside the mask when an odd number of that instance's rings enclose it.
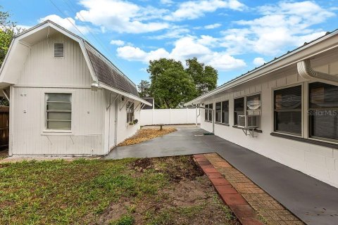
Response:
[[[244,197],[247,203],[261,215],[266,224],[303,224],[302,221],[217,153],[204,154],[204,156],[211,162],[215,170],[220,172],[234,189]]]

